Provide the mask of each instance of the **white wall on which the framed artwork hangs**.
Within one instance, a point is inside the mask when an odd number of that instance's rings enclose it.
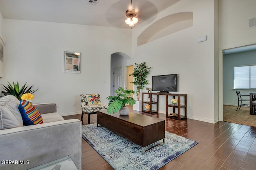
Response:
[[[130,29],[8,19],[3,23],[2,84],[35,85],[39,90],[32,102],[60,104],[57,111],[62,115],[81,113],[80,94],[99,93],[102,103],[107,103],[110,56],[131,55]],[[63,72],[64,50],[81,53],[81,74]]]

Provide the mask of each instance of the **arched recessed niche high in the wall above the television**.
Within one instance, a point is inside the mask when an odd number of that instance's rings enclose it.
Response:
[[[193,26],[193,12],[179,12],[152,23],[137,38],[137,46]]]

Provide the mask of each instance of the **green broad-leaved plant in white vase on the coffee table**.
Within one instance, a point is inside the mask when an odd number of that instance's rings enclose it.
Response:
[[[134,98],[131,98],[131,93],[134,94],[133,90],[124,90],[124,88],[119,87],[115,91],[117,96],[108,96],[107,99],[110,100],[108,103],[107,113],[116,113],[121,107],[124,107],[126,104],[133,105],[136,103]]]

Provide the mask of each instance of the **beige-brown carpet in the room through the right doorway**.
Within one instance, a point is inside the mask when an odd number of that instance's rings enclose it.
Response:
[[[256,127],[256,115],[250,115],[249,107],[223,105],[223,121]]]

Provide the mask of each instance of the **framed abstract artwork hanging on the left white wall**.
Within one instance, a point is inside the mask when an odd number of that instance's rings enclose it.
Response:
[[[81,53],[75,51],[64,51],[64,72],[81,73]]]

